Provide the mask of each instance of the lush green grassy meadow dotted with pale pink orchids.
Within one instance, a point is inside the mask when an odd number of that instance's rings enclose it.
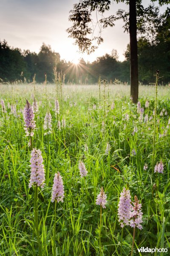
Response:
[[[156,105],[155,94],[155,85],[140,86],[133,104],[123,84],[0,84],[0,255],[170,255],[170,88],[158,86]],[[26,100],[35,121],[28,136]],[[28,188],[33,148],[42,188]],[[64,197],[51,202],[57,172]],[[142,204],[142,228],[120,225],[124,188]]]

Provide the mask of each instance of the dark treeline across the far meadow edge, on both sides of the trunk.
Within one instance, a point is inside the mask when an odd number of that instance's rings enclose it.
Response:
[[[138,38],[139,81],[143,84],[155,81],[155,70],[160,70],[162,82],[170,82],[170,9],[163,15],[159,9],[150,6],[150,16],[145,20],[145,28]],[[142,30],[141,30],[142,31]],[[83,59],[78,65],[60,59],[49,45],[42,44],[40,52],[30,52],[9,47],[0,41],[0,81],[32,82],[36,74],[36,82],[42,83],[47,74],[47,81],[54,81],[54,67],[59,76],[69,84],[94,84],[101,79],[108,82],[130,82],[129,45],[125,50],[125,61],[120,62],[116,50],[98,57],[93,63]]]

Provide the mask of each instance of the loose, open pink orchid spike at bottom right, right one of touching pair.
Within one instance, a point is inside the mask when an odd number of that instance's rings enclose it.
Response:
[[[140,230],[142,230],[142,215],[143,212],[141,210],[142,204],[139,204],[138,198],[135,195],[135,202],[133,203],[133,206],[131,206],[131,212],[130,212],[130,227],[137,227]]]

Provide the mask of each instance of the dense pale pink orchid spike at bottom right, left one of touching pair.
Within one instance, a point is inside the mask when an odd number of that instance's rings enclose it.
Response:
[[[118,204],[118,216],[120,226],[124,227],[129,225],[130,219],[130,207],[131,207],[131,196],[130,190],[123,188],[123,192],[120,194],[119,204]]]

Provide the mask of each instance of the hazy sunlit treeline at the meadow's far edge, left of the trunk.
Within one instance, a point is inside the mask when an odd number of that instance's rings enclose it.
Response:
[[[42,83],[44,74],[47,74],[47,81],[51,83],[54,81],[54,67],[62,79],[64,76],[65,83],[70,84],[94,84],[99,76],[108,81],[129,81],[129,63],[118,61],[116,50],[111,55],[98,57],[93,63],[80,59],[76,65],[61,60],[59,53],[44,43],[37,54],[29,50],[22,52],[19,48],[9,47],[6,41],[0,41],[0,79],[4,82],[31,82],[36,74],[36,82]]]

